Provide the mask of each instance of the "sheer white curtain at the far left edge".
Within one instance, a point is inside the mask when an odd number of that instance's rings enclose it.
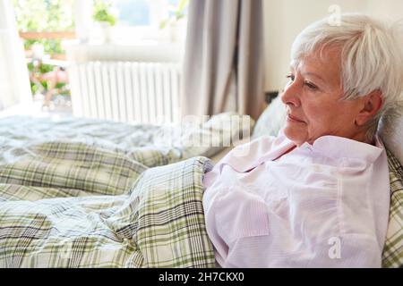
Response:
[[[11,0],[0,0],[0,110],[31,104],[30,79]]]

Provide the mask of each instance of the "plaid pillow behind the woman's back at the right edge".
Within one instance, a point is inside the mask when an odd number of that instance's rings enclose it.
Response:
[[[403,166],[386,149],[390,176],[390,214],[382,267],[403,267]]]

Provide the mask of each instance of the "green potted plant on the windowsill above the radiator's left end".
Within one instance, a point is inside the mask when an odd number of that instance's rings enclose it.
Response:
[[[116,13],[109,1],[94,1],[94,12],[92,19],[99,23],[105,42],[112,40],[112,27],[116,25]]]

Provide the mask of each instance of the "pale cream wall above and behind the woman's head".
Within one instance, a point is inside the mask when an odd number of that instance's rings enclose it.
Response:
[[[265,90],[286,83],[289,50],[296,35],[313,21],[335,13],[360,12],[393,20],[403,19],[403,0],[263,0],[266,82]],[[334,6],[337,5],[337,6]]]

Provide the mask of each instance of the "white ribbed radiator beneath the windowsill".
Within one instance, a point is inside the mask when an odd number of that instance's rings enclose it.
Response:
[[[74,116],[156,124],[180,120],[178,63],[73,63],[69,76]]]

